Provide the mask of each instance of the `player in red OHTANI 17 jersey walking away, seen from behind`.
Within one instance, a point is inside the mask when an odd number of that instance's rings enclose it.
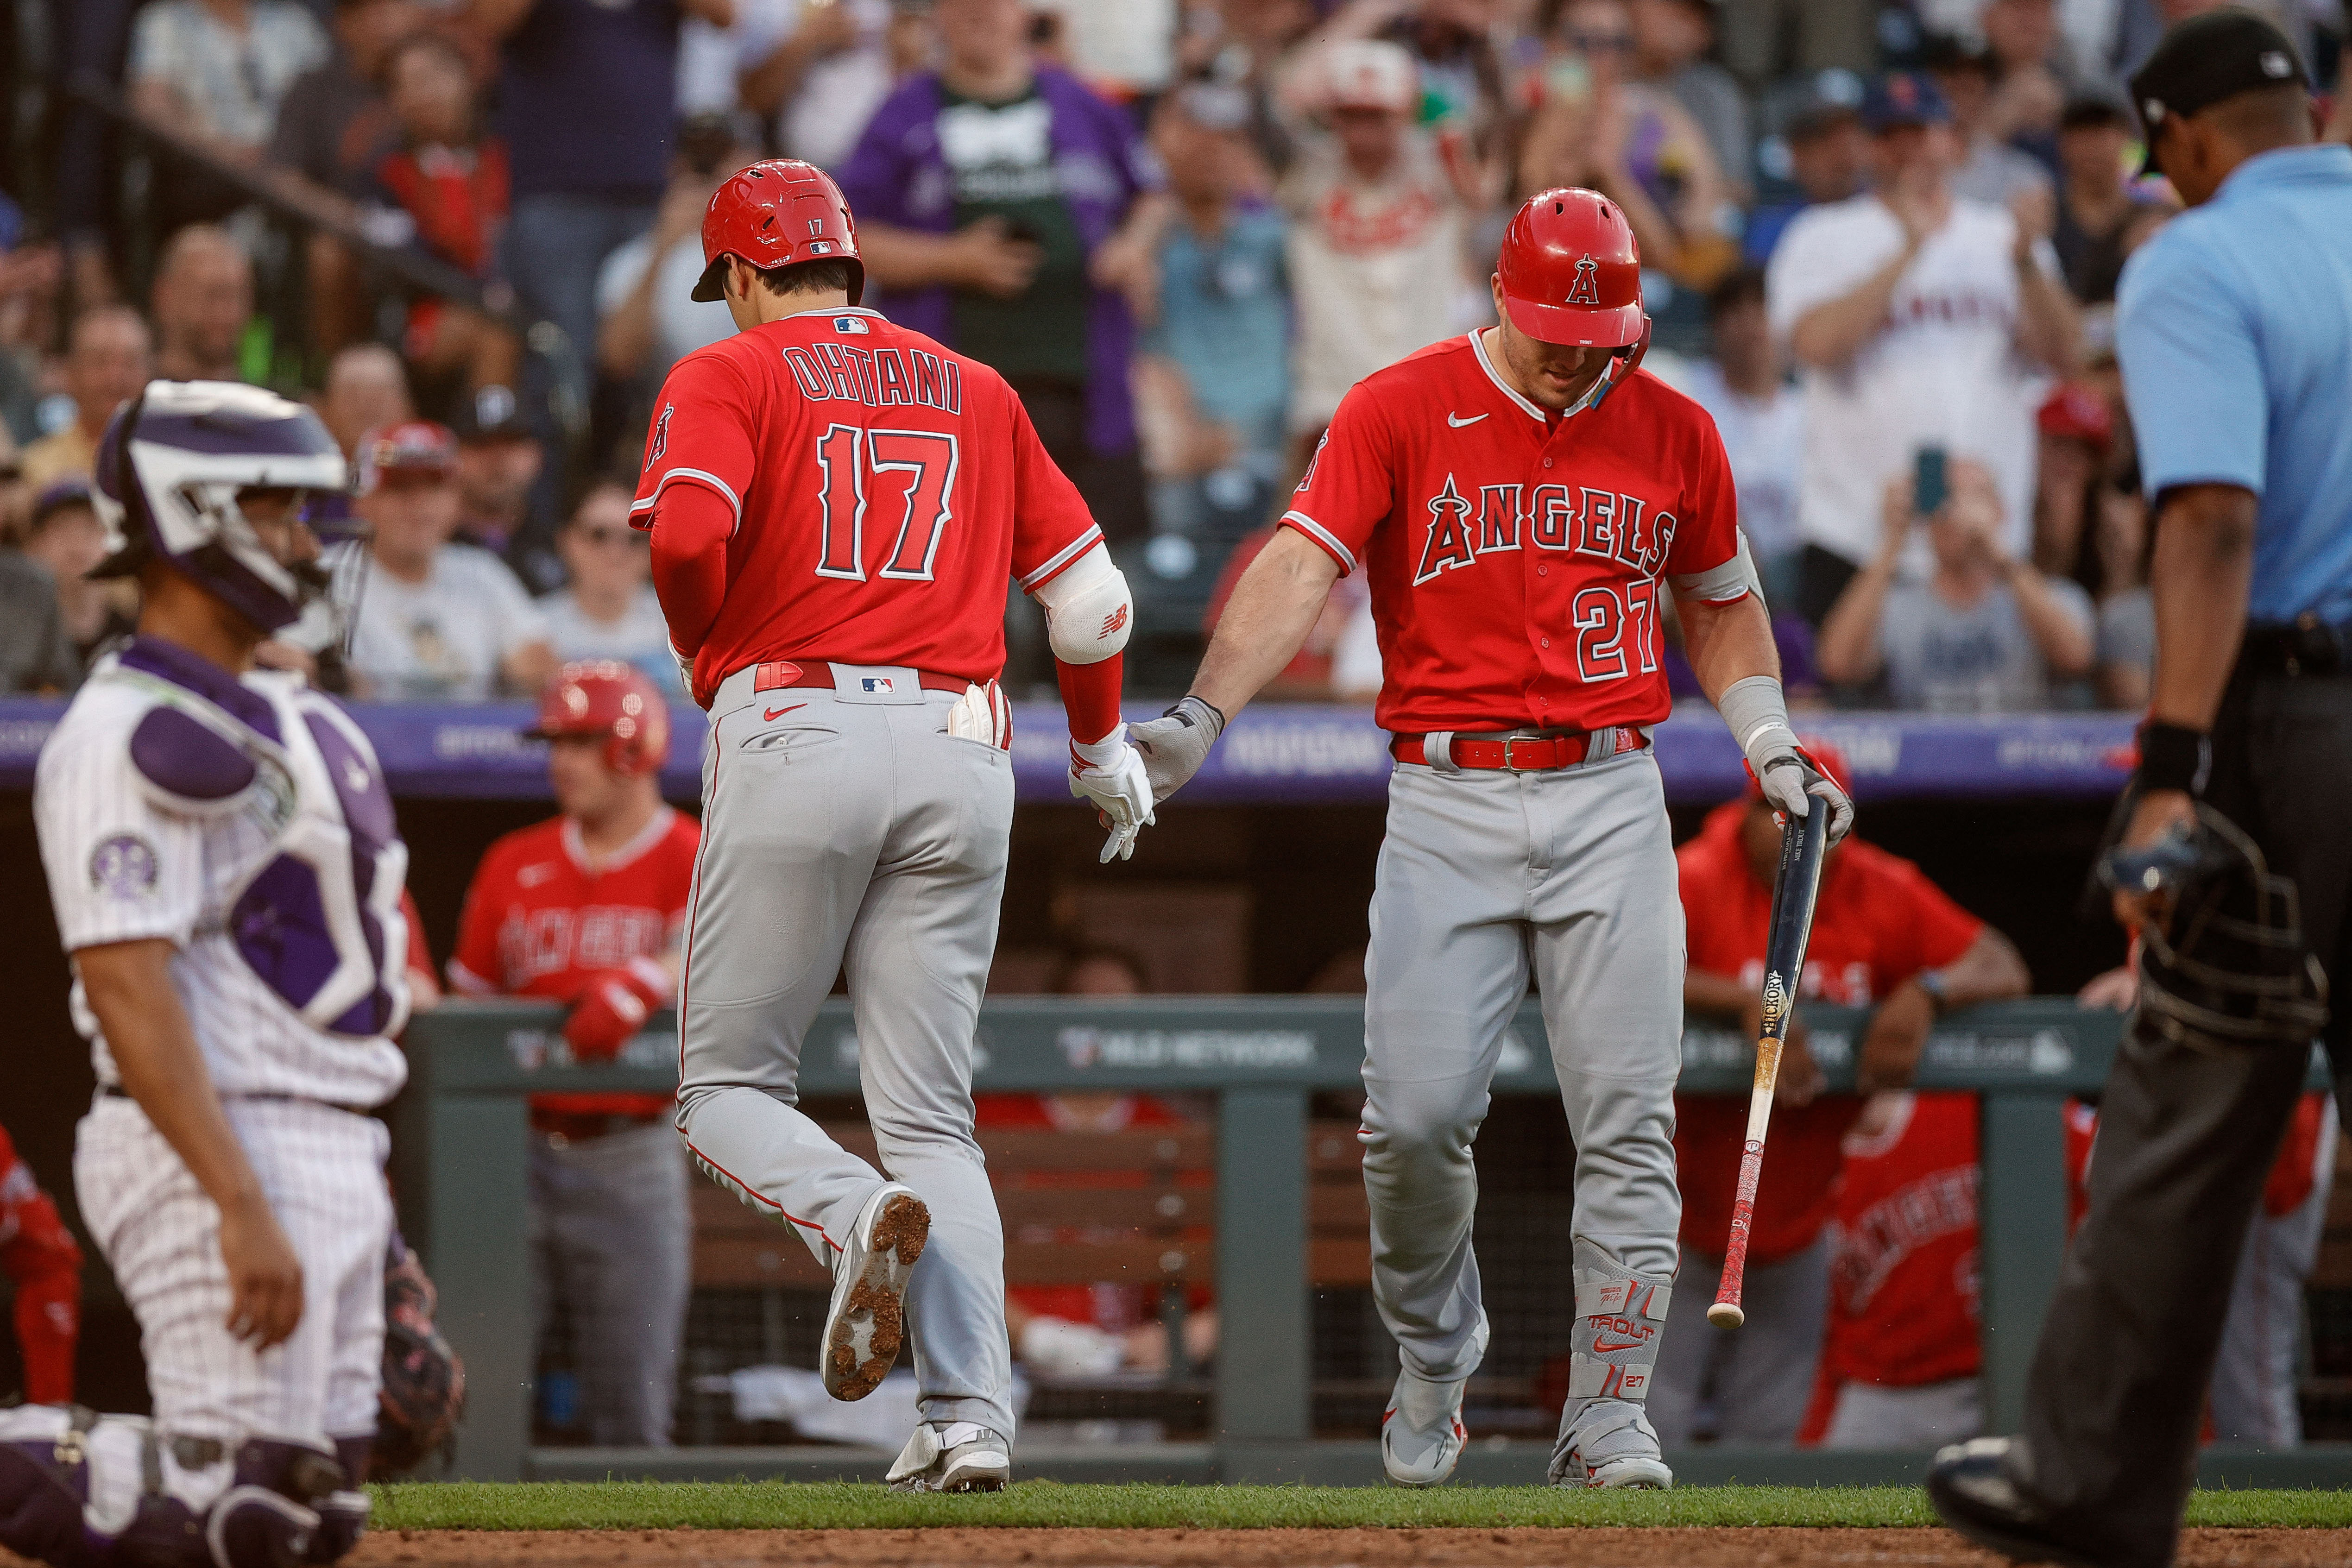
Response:
[[[1004,583],[1044,604],[1070,790],[1110,823],[1105,860],[1152,811],[1120,722],[1134,609],[1004,378],[858,308],[856,230],[826,174],[729,179],[703,256],[694,294],[724,299],[739,334],[670,371],[633,508],[710,710],[677,1128],[833,1269],[830,1394],[873,1392],[913,1338],[922,1422],[891,1483],[993,1490],[1011,1474],[1011,1356],[971,1034],[1011,835]],[[844,969],[889,1178],[795,1107],[802,1039]]]

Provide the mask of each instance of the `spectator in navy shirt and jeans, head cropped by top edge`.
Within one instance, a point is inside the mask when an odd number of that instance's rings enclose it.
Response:
[[[572,339],[560,374],[586,393],[595,275],[654,226],[670,183],[677,28],[734,26],[736,0],[470,0],[499,42],[501,134],[513,160],[503,275]]]

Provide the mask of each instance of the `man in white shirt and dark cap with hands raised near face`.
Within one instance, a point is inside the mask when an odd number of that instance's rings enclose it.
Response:
[[[2042,367],[2072,367],[2079,339],[2049,200],[2004,212],[1952,195],[1936,85],[1891,75],[1863,120],[1877,188],[1802,212],[1764,292],[1802,367],[1797,609],[1816,625],[1877,552],[1879,496],[1922,447],[1978,456],[2002,494],[2004,548],[2027,550]]]

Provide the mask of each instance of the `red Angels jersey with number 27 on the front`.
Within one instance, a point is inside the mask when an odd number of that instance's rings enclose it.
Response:
[[[1552,418],[1472,331],[1364,376],[1282,522],[1371,578],[1383,729],[1590,731],[1672,710],[1661,578],[1731,562],[1736,515],[1696,402],[1637,371]]]

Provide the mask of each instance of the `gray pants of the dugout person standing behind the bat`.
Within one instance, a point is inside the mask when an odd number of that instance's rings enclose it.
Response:
[[[1726,1443],[1788,1443],[1804,1425],[1830,1321],[1830,1239],[1766,1265],[1750,1265],[1740,1328],[1708,1324],[1724,1260],[1682,1251],[1665,1345],[1649,1385],[1649,1425],[1668,1446],[1689,1443],[1698,1406],[1715,1392],[1715,1436]]]

